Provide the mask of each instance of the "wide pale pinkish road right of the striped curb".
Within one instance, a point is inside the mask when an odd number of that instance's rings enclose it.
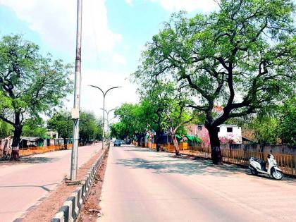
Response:
[[[98,221],[296,221],[296,180],[173,156],[112,147]]]

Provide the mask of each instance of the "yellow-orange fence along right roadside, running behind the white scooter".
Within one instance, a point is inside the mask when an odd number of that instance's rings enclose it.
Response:
[[[134,142],[137,145],[137,142]],[[141,143],[141,146],[151,147],[156,149],[156,144]],[[161,144],[161,150],[166,152],[175,152],[172,144]],[[258,159],[267,159],[268,153],[266,152],[252,152],[241,149],[221,149],[223,161],[229,164],[237,164],[240,166],[249,166],[249,159],[253,156]],[[211,158],[211,149],[209,147],[192,147],[187,144],[180,144],[180,153],[191,156],[199,156],[205,159]],[[290,154],[273,154],[278,166],[287,175],[296,176],[296,155]],[[268,164],[267,166],[268,167]]]

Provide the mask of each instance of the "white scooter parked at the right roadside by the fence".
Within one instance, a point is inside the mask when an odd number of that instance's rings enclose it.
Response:
[[[266,169],[266,161],[251,157],[249,159],[249,169],[252,175],[257,175],[258,173],[265,173],[271,175],[276,180],[281,180],[283,178],[283,171],[278,168],[276,159],[272,154],[267,155],[267,161],[269,161],[269,168]]]

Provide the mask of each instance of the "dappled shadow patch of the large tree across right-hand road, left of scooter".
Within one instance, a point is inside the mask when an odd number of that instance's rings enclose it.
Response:
[[[169,159],[151,160],[141,158],[119,159],[116,164],[121,164],[130,168],[142,168],[152,170],[153,173],[180,173],[183,175],[219,175],[230,176],[244,172],[245,169],[233,165],[214,166],[210,160],[199,159],[192,161],[189,159]]]

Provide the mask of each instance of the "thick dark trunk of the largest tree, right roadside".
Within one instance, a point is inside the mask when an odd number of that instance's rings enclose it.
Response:
[[[221,165],[223,163],[220,140],[218,137],[218,127],[208,127],[211,143],[211,160],[213,164]]]

